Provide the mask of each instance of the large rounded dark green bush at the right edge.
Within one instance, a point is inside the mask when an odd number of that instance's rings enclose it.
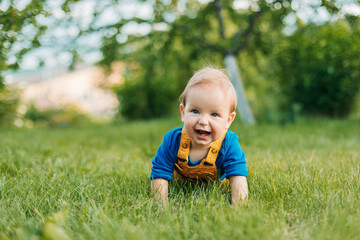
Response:
[[[345,21],[306,25],[276,49],[277,77],[286,109],[346,117],[360,86],[359,29]]]

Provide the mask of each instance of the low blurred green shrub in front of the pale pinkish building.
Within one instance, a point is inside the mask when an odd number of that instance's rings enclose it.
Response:
[[[29,120],[35,125],[50,127],[68,127],[89,122],[87,116],[72,107],[40,111],[33,104],[27,109],[24,120]]]

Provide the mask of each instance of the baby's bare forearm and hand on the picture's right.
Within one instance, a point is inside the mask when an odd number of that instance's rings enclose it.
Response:
[[[248,186],[246,177],[231,176],[231,204],[236,207],[241,201],[246,203],[248,196]]]

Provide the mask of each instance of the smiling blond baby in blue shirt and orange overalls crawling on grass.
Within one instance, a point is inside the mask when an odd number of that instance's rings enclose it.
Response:
[[[155,197],[168,200],[168,181],[230,180],[231,203],[248,195],[245,154],[229,129],[235,118],[236,93],[220,70],[203,68],[189,80],[180,96],[183,127],[165,134],[152,160],[150,179]]]

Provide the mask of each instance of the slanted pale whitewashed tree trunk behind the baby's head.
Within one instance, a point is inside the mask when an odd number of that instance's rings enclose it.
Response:
[[[255,119],[246,100],[244,87],[239,74],[236,58],[233,54],[227,54],[224,59],[226,69],[229,72],[230,80],[234,85],[237,96],[237,108],[243,122],[254,124]]]

